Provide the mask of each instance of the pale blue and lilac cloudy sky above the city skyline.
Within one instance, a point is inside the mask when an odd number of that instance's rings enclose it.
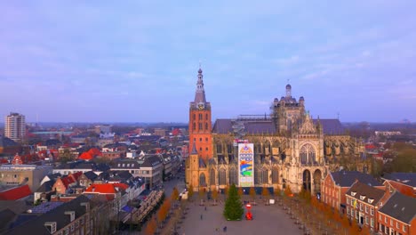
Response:
[[[415,121],[416,2],[339,2],[2,1],[0,115],[187,122],[202,61],[213,118],[290,79],[313,117]]]

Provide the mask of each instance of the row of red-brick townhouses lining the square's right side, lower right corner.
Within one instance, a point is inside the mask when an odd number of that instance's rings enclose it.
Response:
[[[322,202],[380,234],[416,234],[415,177],[387,174],[380,183],[369,174],[331,172],[322,183]]]

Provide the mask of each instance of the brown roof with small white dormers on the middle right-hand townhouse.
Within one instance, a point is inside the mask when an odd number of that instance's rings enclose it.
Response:
[[[363,182],[355,182],[346,192],[348,196],[357,200],[365,201],[365,203],[372,206],[377,205],[380,199],[384,196],[384,193],[385,190],[374,188]]]

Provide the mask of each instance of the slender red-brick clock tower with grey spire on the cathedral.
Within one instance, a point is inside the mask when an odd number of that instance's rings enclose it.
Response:
[[[189,152],[196,147],[198,157],[212,158],[211,103],[205,100],[203,71],[198,70],[194,101],[189,103]]]

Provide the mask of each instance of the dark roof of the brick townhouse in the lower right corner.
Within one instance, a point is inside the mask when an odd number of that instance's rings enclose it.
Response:
[[[395,191],[379,211],[409,224],[416,216],[416,199]]]

